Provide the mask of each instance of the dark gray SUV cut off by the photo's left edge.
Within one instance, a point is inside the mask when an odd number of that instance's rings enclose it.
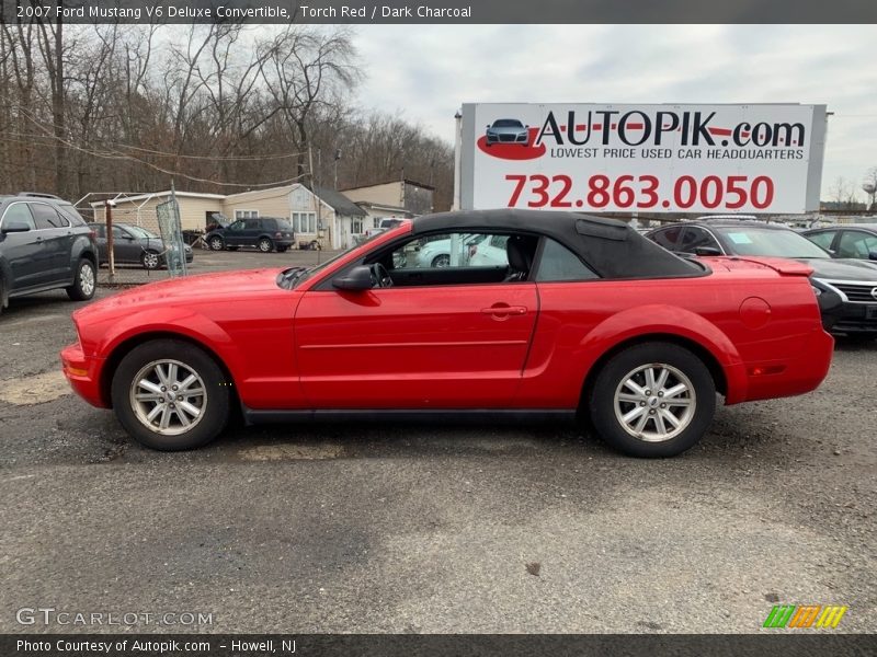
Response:
[[[9,300],[64,288],[73,301],[94,296],[94,233],[66,200],[23,192],[0,196],[0,311]]]

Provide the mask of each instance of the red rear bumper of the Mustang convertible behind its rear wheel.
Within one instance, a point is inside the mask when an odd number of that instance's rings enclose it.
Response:
[[[794,396],[816,390],[829,373],[833,353],[834,338],[818,330],[791,358],[748,362],[745,399],[737,401]]]

